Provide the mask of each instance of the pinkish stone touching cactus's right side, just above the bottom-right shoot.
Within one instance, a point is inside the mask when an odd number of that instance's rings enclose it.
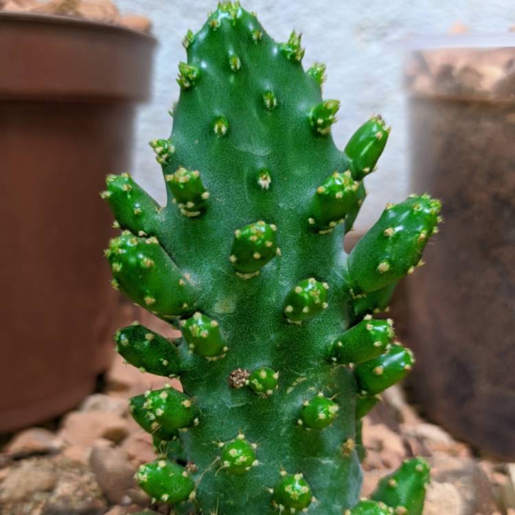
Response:
[[[406,457],[400,436],[385,424],[370,424],[367,417],[363,419],[363,443],[367,449],[363,462],[366,470],[397,468]]]

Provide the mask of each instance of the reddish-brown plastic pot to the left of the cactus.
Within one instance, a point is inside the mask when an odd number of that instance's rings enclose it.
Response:
[[[0,13],[0,431],[59,415],[108,365],[117,297],[98,192],[128,168],[155,40]]]

